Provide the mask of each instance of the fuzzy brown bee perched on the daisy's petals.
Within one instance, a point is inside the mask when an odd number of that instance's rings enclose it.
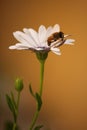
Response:
[[[52,42],[55,42],[57,40],[64,40],[64,33],[63,32],[55,32],[53,33],[51,36],[48,37],[47,42],[48,42],[48,46],[51,45]]]

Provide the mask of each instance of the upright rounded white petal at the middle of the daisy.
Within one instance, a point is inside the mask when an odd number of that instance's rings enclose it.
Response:
[[[46,31],[45,26],[41,25],[38,30],[38,37],[39,37],[40,43],[43,43],[44,41],[46,41],[46,32],[47,31]]]

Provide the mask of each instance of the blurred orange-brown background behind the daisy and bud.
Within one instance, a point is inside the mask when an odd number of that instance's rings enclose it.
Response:
[[[34,53],[9,50],[17,41],[13,32],[23,28],[46,27],[58,23],[71,34],[75,45],[61,46],[61,56],[49,53],[45,63],[43,107],[37,123],[43,130],[87,130],[87,1],[86,0],[0,0],[0,130],[12,114],[5,95],[14,81],[24,81],[18,123],[27,130],[35,112],[28,86],[36,92],[40,64]]]

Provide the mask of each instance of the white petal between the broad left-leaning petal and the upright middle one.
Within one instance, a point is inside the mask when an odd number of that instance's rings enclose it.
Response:
[[[38,33],[34,29],[32,29],[32,28],[30,28],[30,29],[24,28],[23,31],[27,35],[31,35],[31,38],[36,42],[37,45],[39,44]]]

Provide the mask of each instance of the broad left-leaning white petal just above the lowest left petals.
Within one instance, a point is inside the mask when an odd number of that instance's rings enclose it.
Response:
[[[20,32],[20,31],[16,31],[13,33],[14,37],[22,42],[22,43],[28,43],[30,44],[32,47],[36,46],[35,42],[32,40],[32,38],[28,35],[26,35],[25,33],[23,32]]]

